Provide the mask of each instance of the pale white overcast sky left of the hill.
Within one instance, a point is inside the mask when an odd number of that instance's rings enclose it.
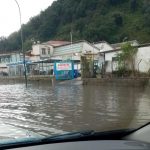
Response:
[[[17,0],[22,14],[22,23],[42,10],[45,10],[54,0]],[[0,36],[8,36],[20,28],[19,10],[15,0],[0,0]]]

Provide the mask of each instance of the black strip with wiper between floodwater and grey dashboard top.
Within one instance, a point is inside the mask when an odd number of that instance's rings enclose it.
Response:
[[[147,123],[142,127],[149,125]],[[9,149],[17,147],[26,147],[42,144],[52,144],[52,143],[63,143],[63,142],[75,142],[75,141],[92,141],[92,140],[122,140],[125,136],[130,135],[131,133],[141,129],[121,129],[121,130],[112,130],[112,131],[103,131],[96,132],[94,130],[80,131],[80,132],[71,132],[62,135],[55,135],[46,138],[31,138],[31,139],[22,139],[14,140],[8,143],[0,143],[0,149]]]

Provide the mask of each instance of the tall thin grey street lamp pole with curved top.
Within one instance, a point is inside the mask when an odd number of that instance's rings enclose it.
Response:
[[[26,84],[26,87],[27,87],[27,70],[26,70],[26,63],[25,63],[25,51],[24,51],[24,48],[23,48],[23,33],[22,33],[22,22],[21,22],[21,9],[20,9],[20,6],[19,6],[19,3],[17,0],[14,0],[18,6],[18,9],[19,9],[19,17],[20,17],[20,34],[21,34],[21,50],[22,50],[22,53],[23,53],[23,65],[24,65],[24,77],[25,77],[25,84]]]

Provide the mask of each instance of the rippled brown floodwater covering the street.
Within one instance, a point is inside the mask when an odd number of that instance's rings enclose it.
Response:
[[[74,82],[34,83],[27,89],[24,84],[1,84],[0,123],[41,135],[137,127],[150,121],[149,91]]]

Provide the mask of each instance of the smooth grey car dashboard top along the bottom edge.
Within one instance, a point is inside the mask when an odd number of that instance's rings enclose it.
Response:
[[[13,150],[150,150],[150,144],[128,140],[78,141],[29,146]]]

